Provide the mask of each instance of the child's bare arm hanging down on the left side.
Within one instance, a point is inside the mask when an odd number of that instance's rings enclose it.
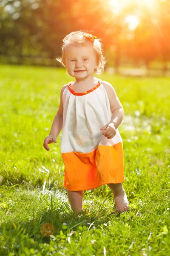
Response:
[[[62,104],[62,94],[63,94],[63,91],[65,90],[65,88],[67,87],[68,85],[64,85],[62,88],[61,88],[61,92],[60,92],[60,102],[59,102],[59,108],[57,110],[57,113],[54,117],[54,120],[53,120],[53,123],[52,123],[52,126],[51,126],[51,131],[50,131],[50,134],[48,137],[45,138],[44,140],[44,148],[49,151],[50,148],[48,147],[48,144],[50,143],[57,143],[56,141],[56,138],[57,136],[59,135],[60,131],[62,130],[62,121],[63,121],[63,104]]]

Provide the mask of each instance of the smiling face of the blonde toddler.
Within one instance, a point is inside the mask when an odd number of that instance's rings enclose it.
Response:
[[[69,45],[65,49],[65,67],[70,76],[82,80],[93,76],[96,65],[96,54],[91,45]]]

